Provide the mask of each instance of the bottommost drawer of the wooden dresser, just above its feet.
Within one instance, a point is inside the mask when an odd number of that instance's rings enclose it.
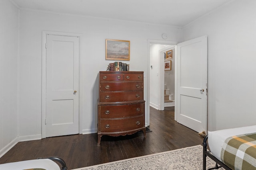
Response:
[[[101,132],[122,132],[144,127],[144,116],[124,119],[101,119]]]

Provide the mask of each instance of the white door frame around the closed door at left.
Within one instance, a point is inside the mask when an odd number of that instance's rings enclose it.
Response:
[[[46,138],[46,36],[47,35],[62,35],[70,37],[79,37],[79,54],[80,54],[80,37],[82,34],[66,33],[56,31],[42,31],[42,138]],[[79,55],[79,61],[81,61]],[[82,62],[79,62],[79,133],[82,133]]]

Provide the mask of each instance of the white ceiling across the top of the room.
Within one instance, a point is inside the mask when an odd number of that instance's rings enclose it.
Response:
[[[12,0],[43,10],[182,27],[232,0]]]

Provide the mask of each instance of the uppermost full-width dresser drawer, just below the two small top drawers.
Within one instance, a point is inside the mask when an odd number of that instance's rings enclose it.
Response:
[[[100,91],[111,92],[111,91],[130,91],[130,90],[142,90],[143,82],[101,82]]]

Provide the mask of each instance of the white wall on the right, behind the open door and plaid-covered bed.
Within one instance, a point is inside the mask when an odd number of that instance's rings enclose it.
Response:
[[[182,33],[183,41],[208,35],[208,130],[255,125],[255,0],[234,0]]]

